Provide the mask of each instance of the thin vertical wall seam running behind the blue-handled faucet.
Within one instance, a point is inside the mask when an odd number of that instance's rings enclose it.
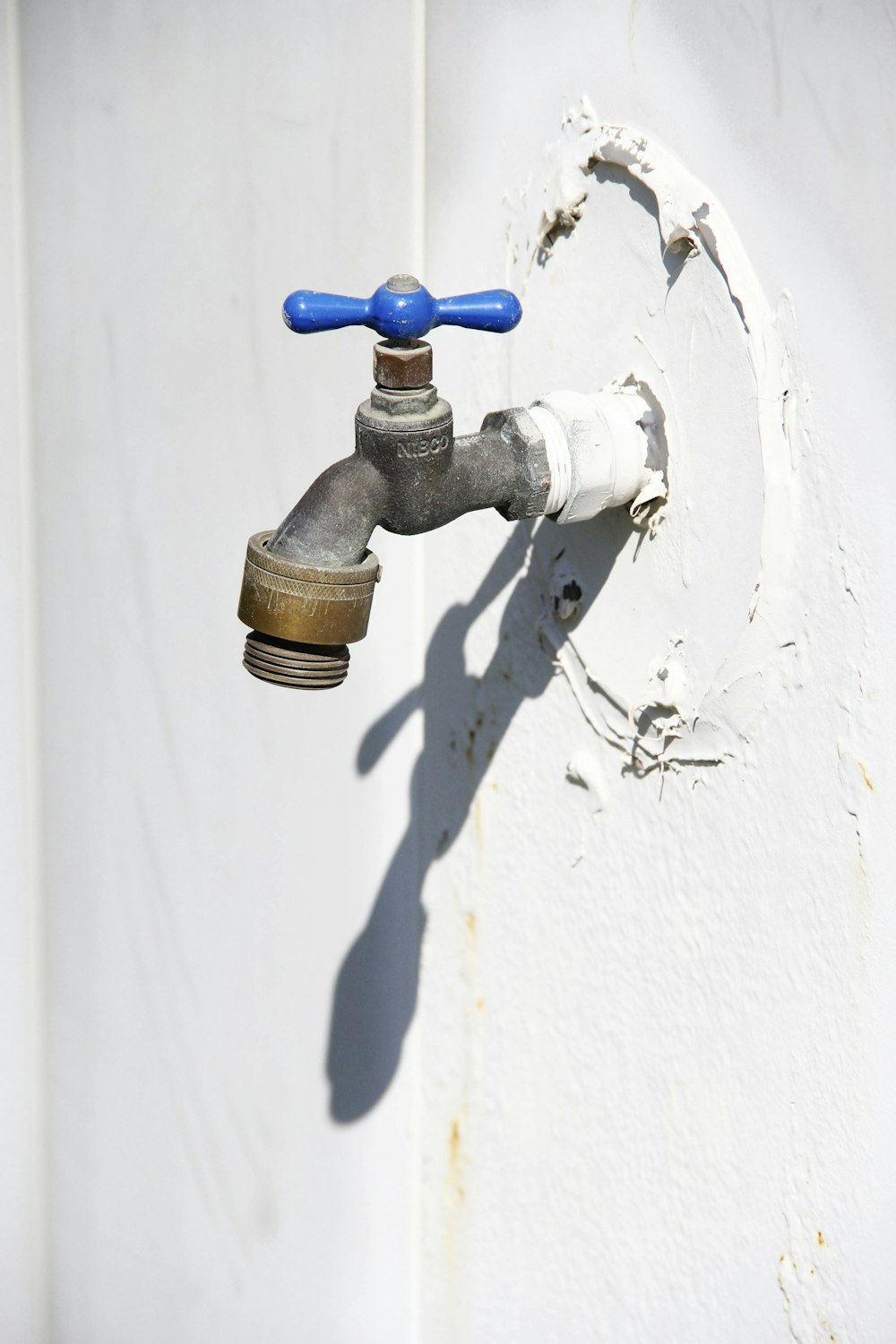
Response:
[[[414,142],[411,145],[411,247],[414,254],[414,274],[426,284],[426,0],[411,0],[411,126],[414,128]],[[416,538],[416,563],[414,564],[414,681],[420,685],[420,698],[424,700],[426,688],[423,675],[426,671],[426,535]],[[416,718],[416,751],[423,751],[423,724],[424,714]],[[416,784],[422,788],[422,782]],[[423,800],[412,800],[420,804]],[[420,816],[420,808],[414,809]],[[423,856],[420,853],[422,828],[418,827],[415,837],[415,883],[423,894]],[[420,946],[419,953],[423,954]],[[422,968],[420,968],[422,969]],[[420,1071],[420,1032],[419,1023],[414,1024],[411,1032],[412,1059],[411,1063],[411,1142],[410,1161],[412,1164],[410,1193],[411,1193],[411,1292],[410,1292],[410,1337],[414,1344],[420,1344],[420,1300],[422,1300],[422,1071]]]

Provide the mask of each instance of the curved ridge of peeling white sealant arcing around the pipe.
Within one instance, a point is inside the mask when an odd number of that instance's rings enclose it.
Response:
[[[795,663],[801,613],[793,582],[799,520],[794,449],[805,434],[806,396],[799,388],[793,301],[783,293],[775,308],[770,305],[727,212],[673,155],[627,126],[599,121],[587,98],[567,114],[560,140],[548,151],[537,226],[521,245],[510,239],[512,262],[525,258],[527,276],[537,259],[549,258],[557,231],[574,228],[582,218],[594,185],[588,172],[600,163],[626,169],[653,192],[664,247],[685,251],[689,263],[708,255],[743,324],[756,383],[764,477],[760,573],[747,624],[700,704],[676,704],[668,716],[654,719],[650,731],[638,730],[634,737],[633,720],[649,706],[621,716],[563,633],[552,636],[549,622],[543,621],[540,636],[553,648],[592,728],[614,746],[625,743],[642,769],[720,763],[743,754],[772,684],[789,680]],[[614,710],[607,712],[610,703]]]

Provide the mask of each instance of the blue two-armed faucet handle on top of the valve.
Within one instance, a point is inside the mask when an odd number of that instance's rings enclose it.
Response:
[[[521,317],[520,300],[509,289],[433,298],[414,276],[392,276],[369,298],[297,289],[283,304],[283,321],[304,336],[339,327],[371,327],[392,340],[419,340],[434,327],[509,332]]]

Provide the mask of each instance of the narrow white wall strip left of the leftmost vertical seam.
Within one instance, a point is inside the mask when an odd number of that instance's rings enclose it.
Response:
[[[44,1050],[35,574],[16,12],[0,13],[0,1322],[40,1337]]]

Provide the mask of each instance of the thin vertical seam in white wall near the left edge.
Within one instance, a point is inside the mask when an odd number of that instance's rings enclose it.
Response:
[[[12,168],[12,245],[16,349],[16,419],[19,448],[19,508],[21,523],[21,668],[26,741],[26,872],[28,907],[30,986],[30,1111],[31,1111],[31,1265],[34,1344],[50,1339],[48,1278],[48,1086],[47,1086],[47,953],[46,900],[42,863],[42,734],[39,578],[36,546],[36,462],[34,383],[28,317],[28,249],[26,210],[26,145],[21,87],[20,0],[7,0],[9,67],[9,140]]]

